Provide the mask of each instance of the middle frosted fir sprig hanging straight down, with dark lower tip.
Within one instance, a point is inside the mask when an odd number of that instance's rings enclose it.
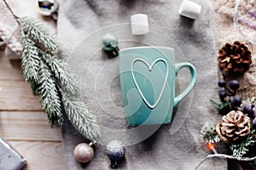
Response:
[[[38,94],[41,95],[40,102],[51,126],[61,126],[63,124],[61,99],[55,85],[55,80],[48,66],[43,61],[40,62]]]

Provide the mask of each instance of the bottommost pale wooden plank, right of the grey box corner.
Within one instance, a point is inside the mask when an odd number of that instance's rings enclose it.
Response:
[[[61,143],[27,141],[8,142],[26,159],[27,165],[23,170],[65,169]]]

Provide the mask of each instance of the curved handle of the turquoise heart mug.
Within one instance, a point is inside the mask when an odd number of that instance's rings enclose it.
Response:
[[[181,94],[178,94],[174,98],[174,106],[173,107],[175,107],[182,99],[184,99],[184,97],[186,97],[189,94],[189,92],[195,87],[195,82],[196,82],[195,66],[188,62],[175,64],[176,76],[177,76],[178,71],[180,71],[183,67],[187,67],[189,69],[189,71],[191,73],[191,82],[189,82],[189,85],[187,86],[187,88],[185,88],[183,90],[183,92]]]

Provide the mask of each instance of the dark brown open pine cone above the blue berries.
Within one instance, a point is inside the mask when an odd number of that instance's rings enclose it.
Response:
[[[218,65],[221,70],[227,73],[242,74],[249,69],[252,63],[252,54],[245,44],[238,41],[232,45],[226,43],[218,51]]]

